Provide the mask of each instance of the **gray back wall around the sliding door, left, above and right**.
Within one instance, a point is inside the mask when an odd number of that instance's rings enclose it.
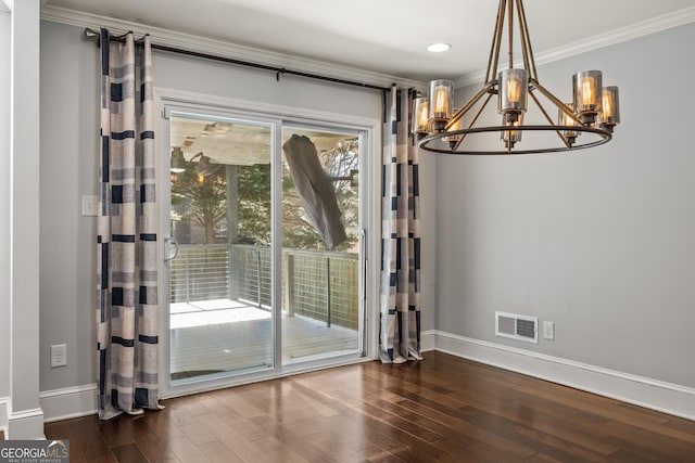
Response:
[[[96,220],[80,196],[97,192],[98,51],[81,28],[41,24],[41,377],[40,389],[96,382]],[[155,86],[224,98],[380,118],[381,94],[155,52]],[[1,88],[1,87],[0,87]],[[1,133],[0,133],[1,136]],[[424,201],[433,202],[434,160],[424,170]],[[434,326],[434,215],[428,209],[425,329]],[[4,280],[3,280],[4,281]],[[68,366],[49,368],[51,344],[67,342]],[[0,389],[1,391],[1,389]],[[1,395],[1,394],[0,394]]]

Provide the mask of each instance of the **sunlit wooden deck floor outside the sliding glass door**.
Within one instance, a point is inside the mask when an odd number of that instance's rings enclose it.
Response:
[[[174,380],[273,365],[273,321],[267,309],[228,299],[172,304],[169,326]],[[283,316],[282,342],[282,362],[288,364],[356,351],[358,334],[301,316]]]

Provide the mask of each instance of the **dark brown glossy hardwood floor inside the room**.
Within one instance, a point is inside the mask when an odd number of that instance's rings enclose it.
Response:
[[[427,352],[46,425],[78,462],[695,462],[695,422]]]

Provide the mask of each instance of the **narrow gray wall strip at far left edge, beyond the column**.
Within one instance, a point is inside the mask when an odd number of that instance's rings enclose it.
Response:
[[[0,11],[0,398],[10,396],[10,13]],[[5,373],[8,372],[8,373]]]

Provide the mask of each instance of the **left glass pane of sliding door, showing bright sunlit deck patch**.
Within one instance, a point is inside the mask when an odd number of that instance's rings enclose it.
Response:
[[[170,124],[170,377],[271,369],[273,125]]]

